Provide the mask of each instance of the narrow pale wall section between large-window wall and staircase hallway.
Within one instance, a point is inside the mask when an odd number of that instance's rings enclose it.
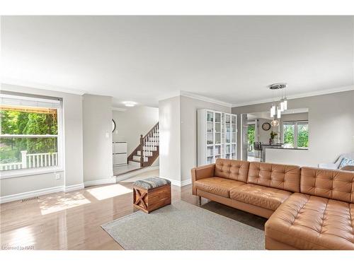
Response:
[[[83,97],[84,182],[113,177],[112,98]]]

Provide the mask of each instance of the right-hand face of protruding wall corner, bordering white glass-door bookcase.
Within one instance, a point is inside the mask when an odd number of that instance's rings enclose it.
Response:
[[[231,112],[225,107],[195,98],[180,97],[181,111],[181,182],[190,181],[190,170],[197,165],[197,110]]]

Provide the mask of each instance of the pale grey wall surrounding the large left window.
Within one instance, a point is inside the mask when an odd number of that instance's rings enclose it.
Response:
[[[26,93],[42,95],[63,100],[64,112],[64,169],[59,172],[60,179],[55,179],[55,173],[30,175],[1,179],[1,197],[33,192],[39,189],[51,189],[54,187],[67,187],[84,182],[83,177],[83,142],[82,142],[82,98],[81,95],[61,93],[24,86],[13,86],[1,83],[1,90],[13,93]]]

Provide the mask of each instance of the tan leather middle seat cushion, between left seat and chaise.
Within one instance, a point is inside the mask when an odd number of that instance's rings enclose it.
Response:
[[[255,184],[245,184],[230,190],[230,198],[275,211],[291,192]]]

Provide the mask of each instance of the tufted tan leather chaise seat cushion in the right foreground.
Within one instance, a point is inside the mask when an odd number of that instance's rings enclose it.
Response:
[[[292,194],[265,223],[265,237],[297,249],[354,249],[354,204]]]

